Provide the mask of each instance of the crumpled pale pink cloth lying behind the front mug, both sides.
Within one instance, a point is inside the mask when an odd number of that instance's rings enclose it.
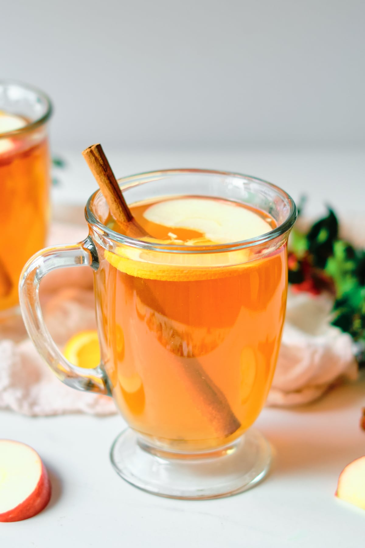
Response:
[[[77,242],[86,226],[54,223],[50,244]],[[57,271],[41,284],[45,322],[62,349],[71,336],[95,329],[92,272],[87,267]],[[321,396],[341,379],[356,379],[350,335],[328,323],[331,302],[304,293],[288,295],[287,318],[268,404],[292,406]],[[63,385],[28,338],[0,341],[0,408],[25,415],[116,412],[112,398]]]

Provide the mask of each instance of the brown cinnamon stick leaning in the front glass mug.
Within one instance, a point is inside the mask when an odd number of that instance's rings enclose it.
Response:
[[[100,144],[89,146],[83,151],[83,156],[94,175],[100,190],[105,197],[110,212],[126,233],[126,236],[138,238],[148,236],[143,227],[137,223],[125,202],[117,179],[102,150]],[[166,318],[167,320],[167,318]],[[171,329],[173,336],[176,335]],[[183,340],[183,333],[179,334]],[[161,341],[161,344],[166,341]],[[191,356],[194,358],[194,356]],[[201,409],[219,436],[228,437],[241,426],[240,421],[230,408],[228,399],[223,392],[206,374],[197,358],[189,360],[189,366],[181,368],[179,372],[184,377],[184,384],[192,390],[196,406]]]

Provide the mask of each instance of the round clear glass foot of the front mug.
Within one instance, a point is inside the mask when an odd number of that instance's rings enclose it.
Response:
[[[131,429],[121,432],[111,449],[115,471],[135,487],[198,500],[234,495],[256,485],[270,469],[271,449],[260,432],[250,429],[219,454],[191,456],[149,450]]]

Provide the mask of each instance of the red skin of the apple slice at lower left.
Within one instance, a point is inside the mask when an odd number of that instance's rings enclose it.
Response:
[[[35,516],[41,512],[49,503],[51,498],[51,482],[49,481],[47,470],[42,463],[42,472],[40,474],[37,487],[25,500],[18,506],[0,514],[0,522],[22,521]]]

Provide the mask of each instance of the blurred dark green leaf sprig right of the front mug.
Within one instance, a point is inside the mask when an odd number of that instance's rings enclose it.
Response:
[[[339,238],[331,208],[306,232],[289,239],[289,283],[294,290],[333,296],[332,324],[365,346],[365,250]]]

